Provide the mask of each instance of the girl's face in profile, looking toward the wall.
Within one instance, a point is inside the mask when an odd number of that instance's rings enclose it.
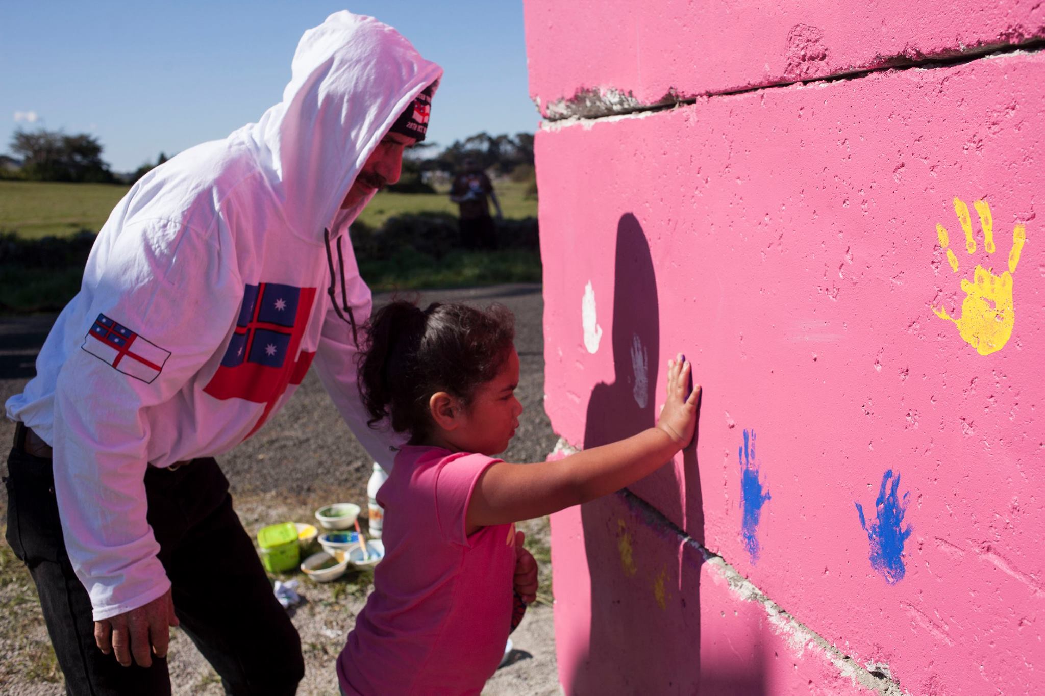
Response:
[[[475,390],[461,426],[447,439],[463,452],[490,457],[507,450],[522,412],[522,404],[515,398],[518,384],[519,356],[513,347],[496,377]]]

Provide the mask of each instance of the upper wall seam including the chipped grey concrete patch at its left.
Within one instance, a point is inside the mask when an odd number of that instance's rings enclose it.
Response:
[[[548,115],[540,121],[542,130],[558,130],[577,124],[584,124],[590,127],[596,122],[612,122],[624,118],[645,118],[652,114],[686,106],[704,99],[715,99],[719,97],[730,97],[738,94],[759,92],[761,90],[773,90],[791,87],[792,85],[813,85],[816,82],[838,82],[860,79],[874,73],[902,70],[934,70],[938,68],[949,68],[963,65],[974,61],[983,61],[1011,54],[1030,54],[1045,51],[1045,40],[1031,39],[1022,44],[991,44],[977,46],[974,49],[961,52],[958,55],[947,56],[926,56],[923,58],[899,58],[889,61],[882,58],[880,65],[874,68],[860,68],[820,75],[806,79],[775,80],[758,85],[748,85],[732,90],[718,90],[701,92],[691,96],[682,97],[674,89],[669,91],[664,98],[651,104],[643,104],[631,96],[631,93],[624,94],[613,88],[599,88],[579,90],[570,99],[557,99],[548,105]],[[539,98],[534,99],[537,111],[540,111]]]

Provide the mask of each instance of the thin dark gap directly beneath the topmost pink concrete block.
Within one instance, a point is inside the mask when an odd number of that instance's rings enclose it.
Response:
[[[886,63],[876,68],[867,68],[862,70],[851,70],[846,72],[834,73],[832,75],[822,75],[819,77],[810,77],[809,79],[795,79],[788,81],[774,81],[766,82],[763,85],[756,85],[749,87],[738,88],[736,90],[721,90],[721,91],[711,91],[701,92],[694,96],[688,96],[684,98],[666,97],[666,100],[657,102],[655,104],[649,105],[638,105],[633,107],[624,109],[607,109],[605,112],[595,112],[590,107],[584,114],[570,114],[570,107],[561,106],[563,112],[565,112],[561,117],[558,118],[545,118],[543,120],[544,127],[561,127],[565,125],[571,125],[575,123],[590,123],[593,121],[600,121],[604,119],[621,119],[627,117],[636,116],[647,116],[649,114],[654,114],[663,111],[670,111],[676,106],[684,106],[688,104],[694,104],[702,99],[714,99],[717,97],[732,97],[738,94],[748,94],[750,92],[761,92],[763,90],[773,90],[785,87],[791,87],[792,85],[812,85],[816,82],[841,82],[853,79],[860,79],[875,73],[886,72],[890,70],[932,70],[935,68],[949,68],[951,66],[963,65],[967,63],[973,63],[974,61],[982,61],[984,58],[992,58],[1000,55],[1006,55],[1009,53],[1038,53],[1045,51],[1045,39],[1035,39],[1023,44],[1002,44],[994,46],[984,46],[981,48],[971,49],[968,52],[961,53],[960,55],[950,55],[950,56],[938,56],[938,57],[924,57],[924,58],[906,58],[903,56],[898,56],[895,63]],[[564,100],[568,103],[570,100]]]

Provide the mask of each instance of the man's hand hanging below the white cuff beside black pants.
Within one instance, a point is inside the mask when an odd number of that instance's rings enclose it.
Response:
[[[150,667],[153,653],[167,656],[168,626],[179,623],[168,590],[148,604],[95,621],[94,642],[107,655],[115,652],[123,667],[131,667],[132,657],[139,667]]]

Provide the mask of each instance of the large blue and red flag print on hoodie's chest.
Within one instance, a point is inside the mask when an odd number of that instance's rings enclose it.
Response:
[[[301,384],[315,353],[300,352],[316,288],[259,283],[243,288],[243,304],[222,364],[204,391],[215,399],[245,399],[269,417],[288,384]],[[250,436],[250,434],[248,436]]]

